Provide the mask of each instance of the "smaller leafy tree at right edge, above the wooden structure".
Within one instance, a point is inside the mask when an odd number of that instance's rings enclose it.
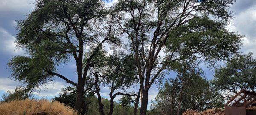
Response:
[[[241,89],[255,92],[256,59],[253,53],[236,55],[226,66],[216,69],[212,83],[219,91],[226,92],[226,98],[232,98]]]

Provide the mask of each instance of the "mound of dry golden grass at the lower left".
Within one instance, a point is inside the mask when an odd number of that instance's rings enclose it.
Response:
[[[0,115],[77,115],[74,109],[55,101],[48,100],[16,100],[0,104]]]

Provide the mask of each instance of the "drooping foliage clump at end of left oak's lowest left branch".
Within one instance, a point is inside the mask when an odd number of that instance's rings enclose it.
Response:
[[[28,91],[52,81],[52,75],[46,71],[55,70],[52,60],[45,56],[16,56],[10,60],[8,66],[13,70],[12,78],[26,83],[25,89]]]

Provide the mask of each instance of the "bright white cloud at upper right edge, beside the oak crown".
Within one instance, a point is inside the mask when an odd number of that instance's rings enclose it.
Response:
[[[256,1],[237,0],[231,11],[234,11],[234,19],[231,20],[227,29],[245,35],[240,51],[244,53],[253,52],[256,55]]]

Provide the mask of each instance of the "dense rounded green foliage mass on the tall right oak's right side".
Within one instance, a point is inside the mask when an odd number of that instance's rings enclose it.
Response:
[[[227,60],[241,46],[241,37],[228,32],[220,22],[208,17],[195,17],[169,32],[166,53],[176,51],[174,53],[181,59],[196,54],[206,61]],[[166,57],[171,57],[171,54]]]

